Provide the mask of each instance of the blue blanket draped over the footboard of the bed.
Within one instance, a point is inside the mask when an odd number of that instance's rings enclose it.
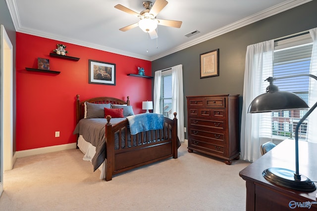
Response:
[[[132,135],[153,129],[162,129],[164,117],[161,114],[143,113],[127,117]]]

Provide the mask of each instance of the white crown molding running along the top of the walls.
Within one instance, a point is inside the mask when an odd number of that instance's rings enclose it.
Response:
[[[58,40],[58,41],[62,41],[62,42],[68,42],[68,43],[72,43],[72,44],[77,44],[77,45],[82,45],[85,47],[91,47],[94,49],[98,49],[98,50],[104,50],[107,52],[112,52],[112,53],[117,53],[117,54],[121,54],[121,55],[125,55],[125,56],[130,56],[130,57],[134,57],[134,58],[139,58],[139,59],[144,59],[144,60],[149,60],[149,61],[154,61],[156,59],[159,59],[161,57],[167,56],[169,54],[175,53],[177,51],[180,51],[182,49],[188,48],[190,46],[199,44],[201,42],[205,42],[208,41],[212,38],[215,38],[217,36],[223,35],[225,33],[231,32],[233,30],[239,29],[241,27],[244,27],[246,25],[255,23],[259,20],[262,20],[264,18],[270,17],[272,15],[278,14],[280,12],[286,11],[288,9],[294,8],[296,6],[299,6],[301,4],[307,3],[309,1],[312,0],[286,0],[282,3],[279,3],[275,6],[272,6],[268,9],[265,9],[261,12],[258,12],[254,15],[251,15],[249,17],[243,18],[239,21],[236,21],[232,24],[229,24],[227,26],[224,26],[222,28],[219,28],[215,31],[212,31],[208,34],[205,34],[201,37],[198,37],[194,40],[191,40],[189,42],[185,42],[183,44],[180,44],[176,47],[174,47],[173,49],[170,49],[168,51],[165,51],[159,55],[153,56],[153,57],[147,57],[147,56],[143,56],[140,54],[135,54],[132,52],[128,52],[128,51],[122,51],[119,49],[115,49],[115,48],[110,48],[104,45],[99,45],[99,44],[95,44],[95,43],[90,43],[90,42],[83,42],[83,41],[79,41],[79,40],[75,40],[72,38],[67,38],[67,37],[62,37],[62,36],[56,36],[54,34],[51,33],[46,33],[46,32],[42,32],[42,31],[37,31],[37,30],[33,30],[33,29],[29,29],[26,27],[22,27],[21,26],[21,22],[20,22],[20,18],[19,18],[19,14],[17,12],[17,7],[16,7],[16,2],[15,0],[5,0],[6,4],[8,6],[10,15],[11,15],[11,19],[15,28],[16,32],[21,32],[21,33],[25,33],[25,34],[30,34],[30,35],[34,35],[34,36],[39,36],[39,37],[43,37],[43,38],[48,38],[48,39],[52,39],[52,40]]]

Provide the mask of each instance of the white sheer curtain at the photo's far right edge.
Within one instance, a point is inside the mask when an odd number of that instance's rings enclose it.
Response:
[[[317,28],[309,30],[313,39],[313,51],[310,74],[317,76]],[[317,102],[317,81],[310,79],[309,107]],[[315,109],[308,117],[308,141],[317,143],[317,110]]]

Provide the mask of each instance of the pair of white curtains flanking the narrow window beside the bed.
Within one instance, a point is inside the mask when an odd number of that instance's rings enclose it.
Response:
[[[177,65],[172,70],[172,111],[177,113],[177,135],[184,142],[184,92],[183,66]],[[159,113],[161,70],[155,72],[154,78],[154,113]]]

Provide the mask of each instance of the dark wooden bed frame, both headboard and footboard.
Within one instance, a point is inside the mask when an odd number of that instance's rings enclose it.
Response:
[[[76,95],[76,124],[84,118],[85,102],[130,105],[129,96],[127,97],[127,101],[123,101],[113,97],[96,97],[80,101],[79,95]],[[149,135],[151,136],[151,140],[146,140],[147,138],[144,138],[144,140],[143,138],[142,140],[137,140],[141,141],[141,145],[133,145],[130,147],[121,148],[121,144],[119,144],[119,149],[116,150],[114,149],[114,134],[115,132],[125,133],[124,137],[127,137],[127,130],[124,128],[127,128],[129,126],[129,122],[127,119],[125,119],[118,124],[111,125],[111,117],[107,116],[106,119],[108,122],[106,124],[106,181],[111,180],[112,175],[126,170],[151,164],[163,159],[167,159],[169,157],[173,157],[174,159],[177,158],[178,138],[176,112],[174,113],[173,120],[164,117],[164,124],[167,124],[168,127],[171,128],[171,130],[165,129],[164,127],[163,129],[155,131],[155,137]],[[166,133],[168,134],[169,138],[163,140],[163,134]],[[120,143],[122,140],[121,135],[119,136]],[[145,135],[145,137],[148,137],[148,135]],[[127,138],[125,138],[125,140],[127,140]],[[148,141],[150,141],[150,143],[148,143]],[[125,146],[126,145],[127,142],[125,143]]]

